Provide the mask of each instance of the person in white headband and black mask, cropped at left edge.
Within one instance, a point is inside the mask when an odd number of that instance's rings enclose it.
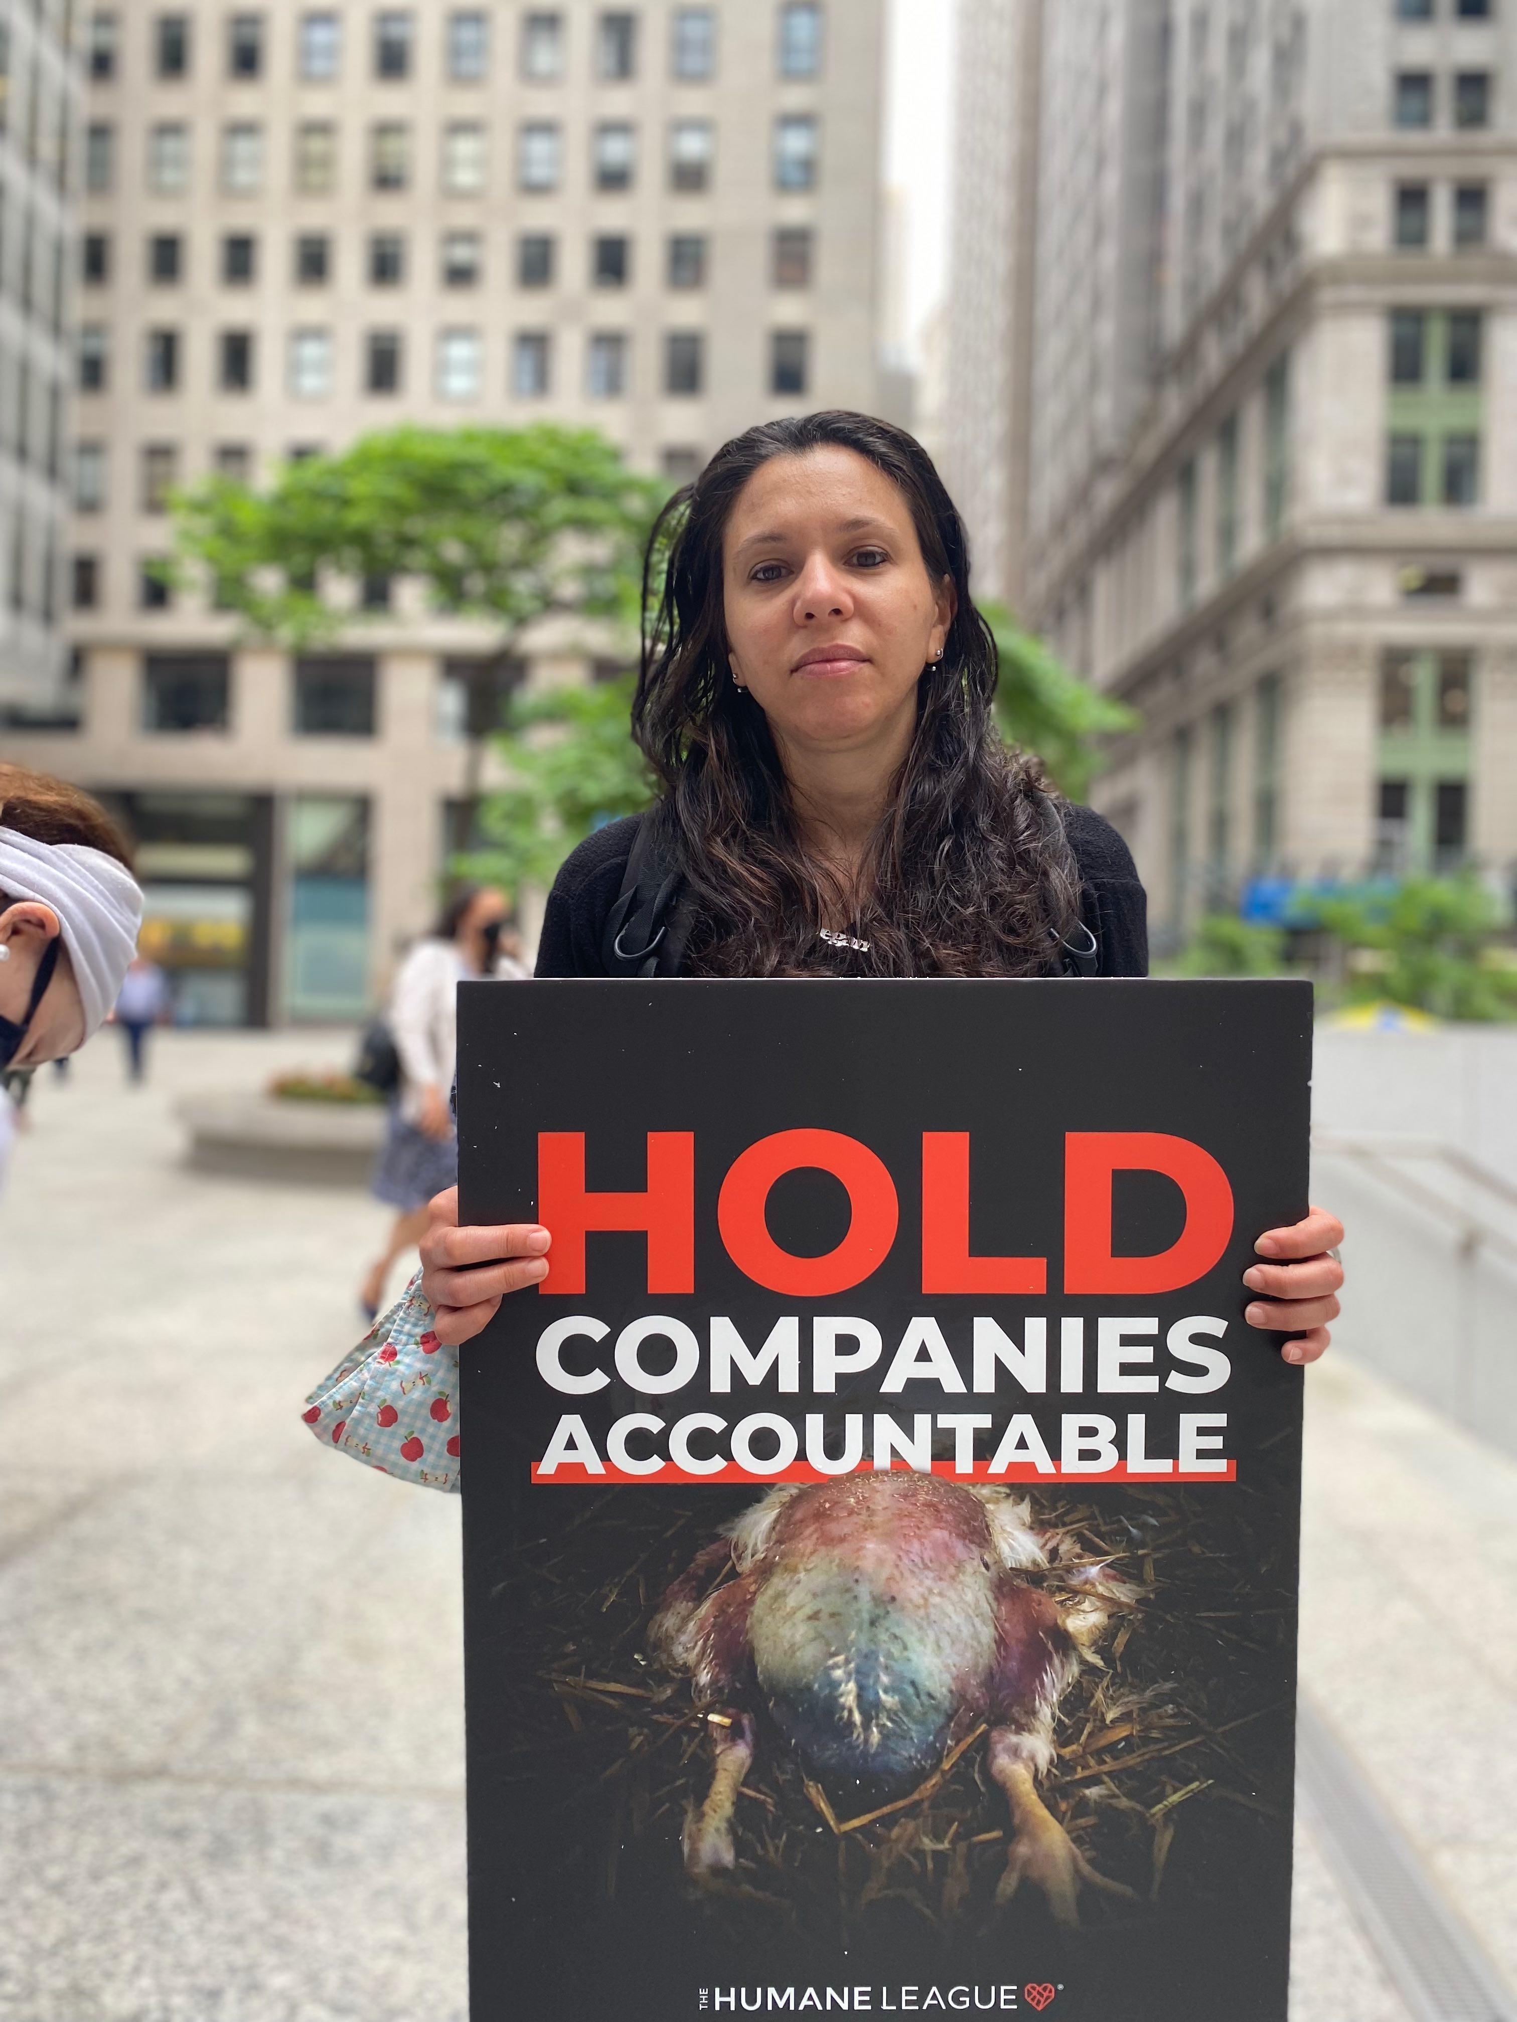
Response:
[[[140,926],[142,892],[105,811],[61,778],[0,764],[0,1177],[8,1090],[105,1023]]]

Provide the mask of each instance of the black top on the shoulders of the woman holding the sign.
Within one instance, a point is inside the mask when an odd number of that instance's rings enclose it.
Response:
[[[621,892],[641,815],[587,835],[558,871],[538,942],[540,977],[603,977],[605,920]],[[1117,829],[1088,807],[1066,807],[1064,827],[1080,874],[1080,918],[1096,936],[1096,975],[1147,977],[1147,898]]]

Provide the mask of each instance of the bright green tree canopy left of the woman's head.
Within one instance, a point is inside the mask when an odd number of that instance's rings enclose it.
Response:
[[[212,477],[174,501],[180,574],[291,649],[362,613],[332,576],[411,578],[435,611],[489,619],[500,651],[554,613],[637,617],[665,487],[593,429],[400,429],[287,463],[267,491]]]

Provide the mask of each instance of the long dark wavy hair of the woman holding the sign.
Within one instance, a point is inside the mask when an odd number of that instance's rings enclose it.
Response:
[[[916,683],[916,734],[858,884],[807,853],[763,710],[728,679],[722,536],[771,457],[835,445],[900,487],[928,576],[953,578],[943,659]],[[659,588],[661,578],[661,588]],[[643,568],[633,734],[653,766],[665,847],[694,926],[686,969],[773,977],[1023,977],[1062,967],[1078,878],[1056,795],[991,716],[995,639],[969,596],[969,544],[926,451],[843,410],[767,421],[663,508]],[[868,948],[837,950],[821,928]]]

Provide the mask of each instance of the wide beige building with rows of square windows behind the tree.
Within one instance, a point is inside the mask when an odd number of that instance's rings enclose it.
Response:
[[[83,724],[26,746],[117,795],[192,1015],[352,1015],[435,904],[492,641],[400,584],[340,651],[249,647],[152,572],[168,493],[400,421],[684,479],[872,408],[882,0],[107,0],[91,36]]]

